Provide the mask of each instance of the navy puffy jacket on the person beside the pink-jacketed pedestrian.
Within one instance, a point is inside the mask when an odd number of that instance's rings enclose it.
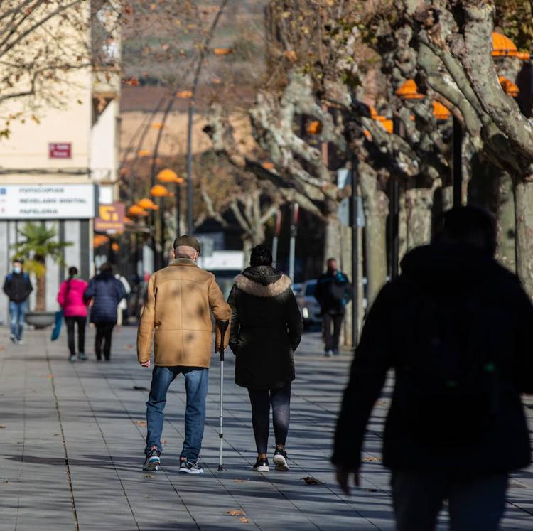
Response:
[[[125,296],[122,282],[111,273],[100,273],[90,279],[85,299],[93,299],[91,323],[116,323],[117,306]]]

